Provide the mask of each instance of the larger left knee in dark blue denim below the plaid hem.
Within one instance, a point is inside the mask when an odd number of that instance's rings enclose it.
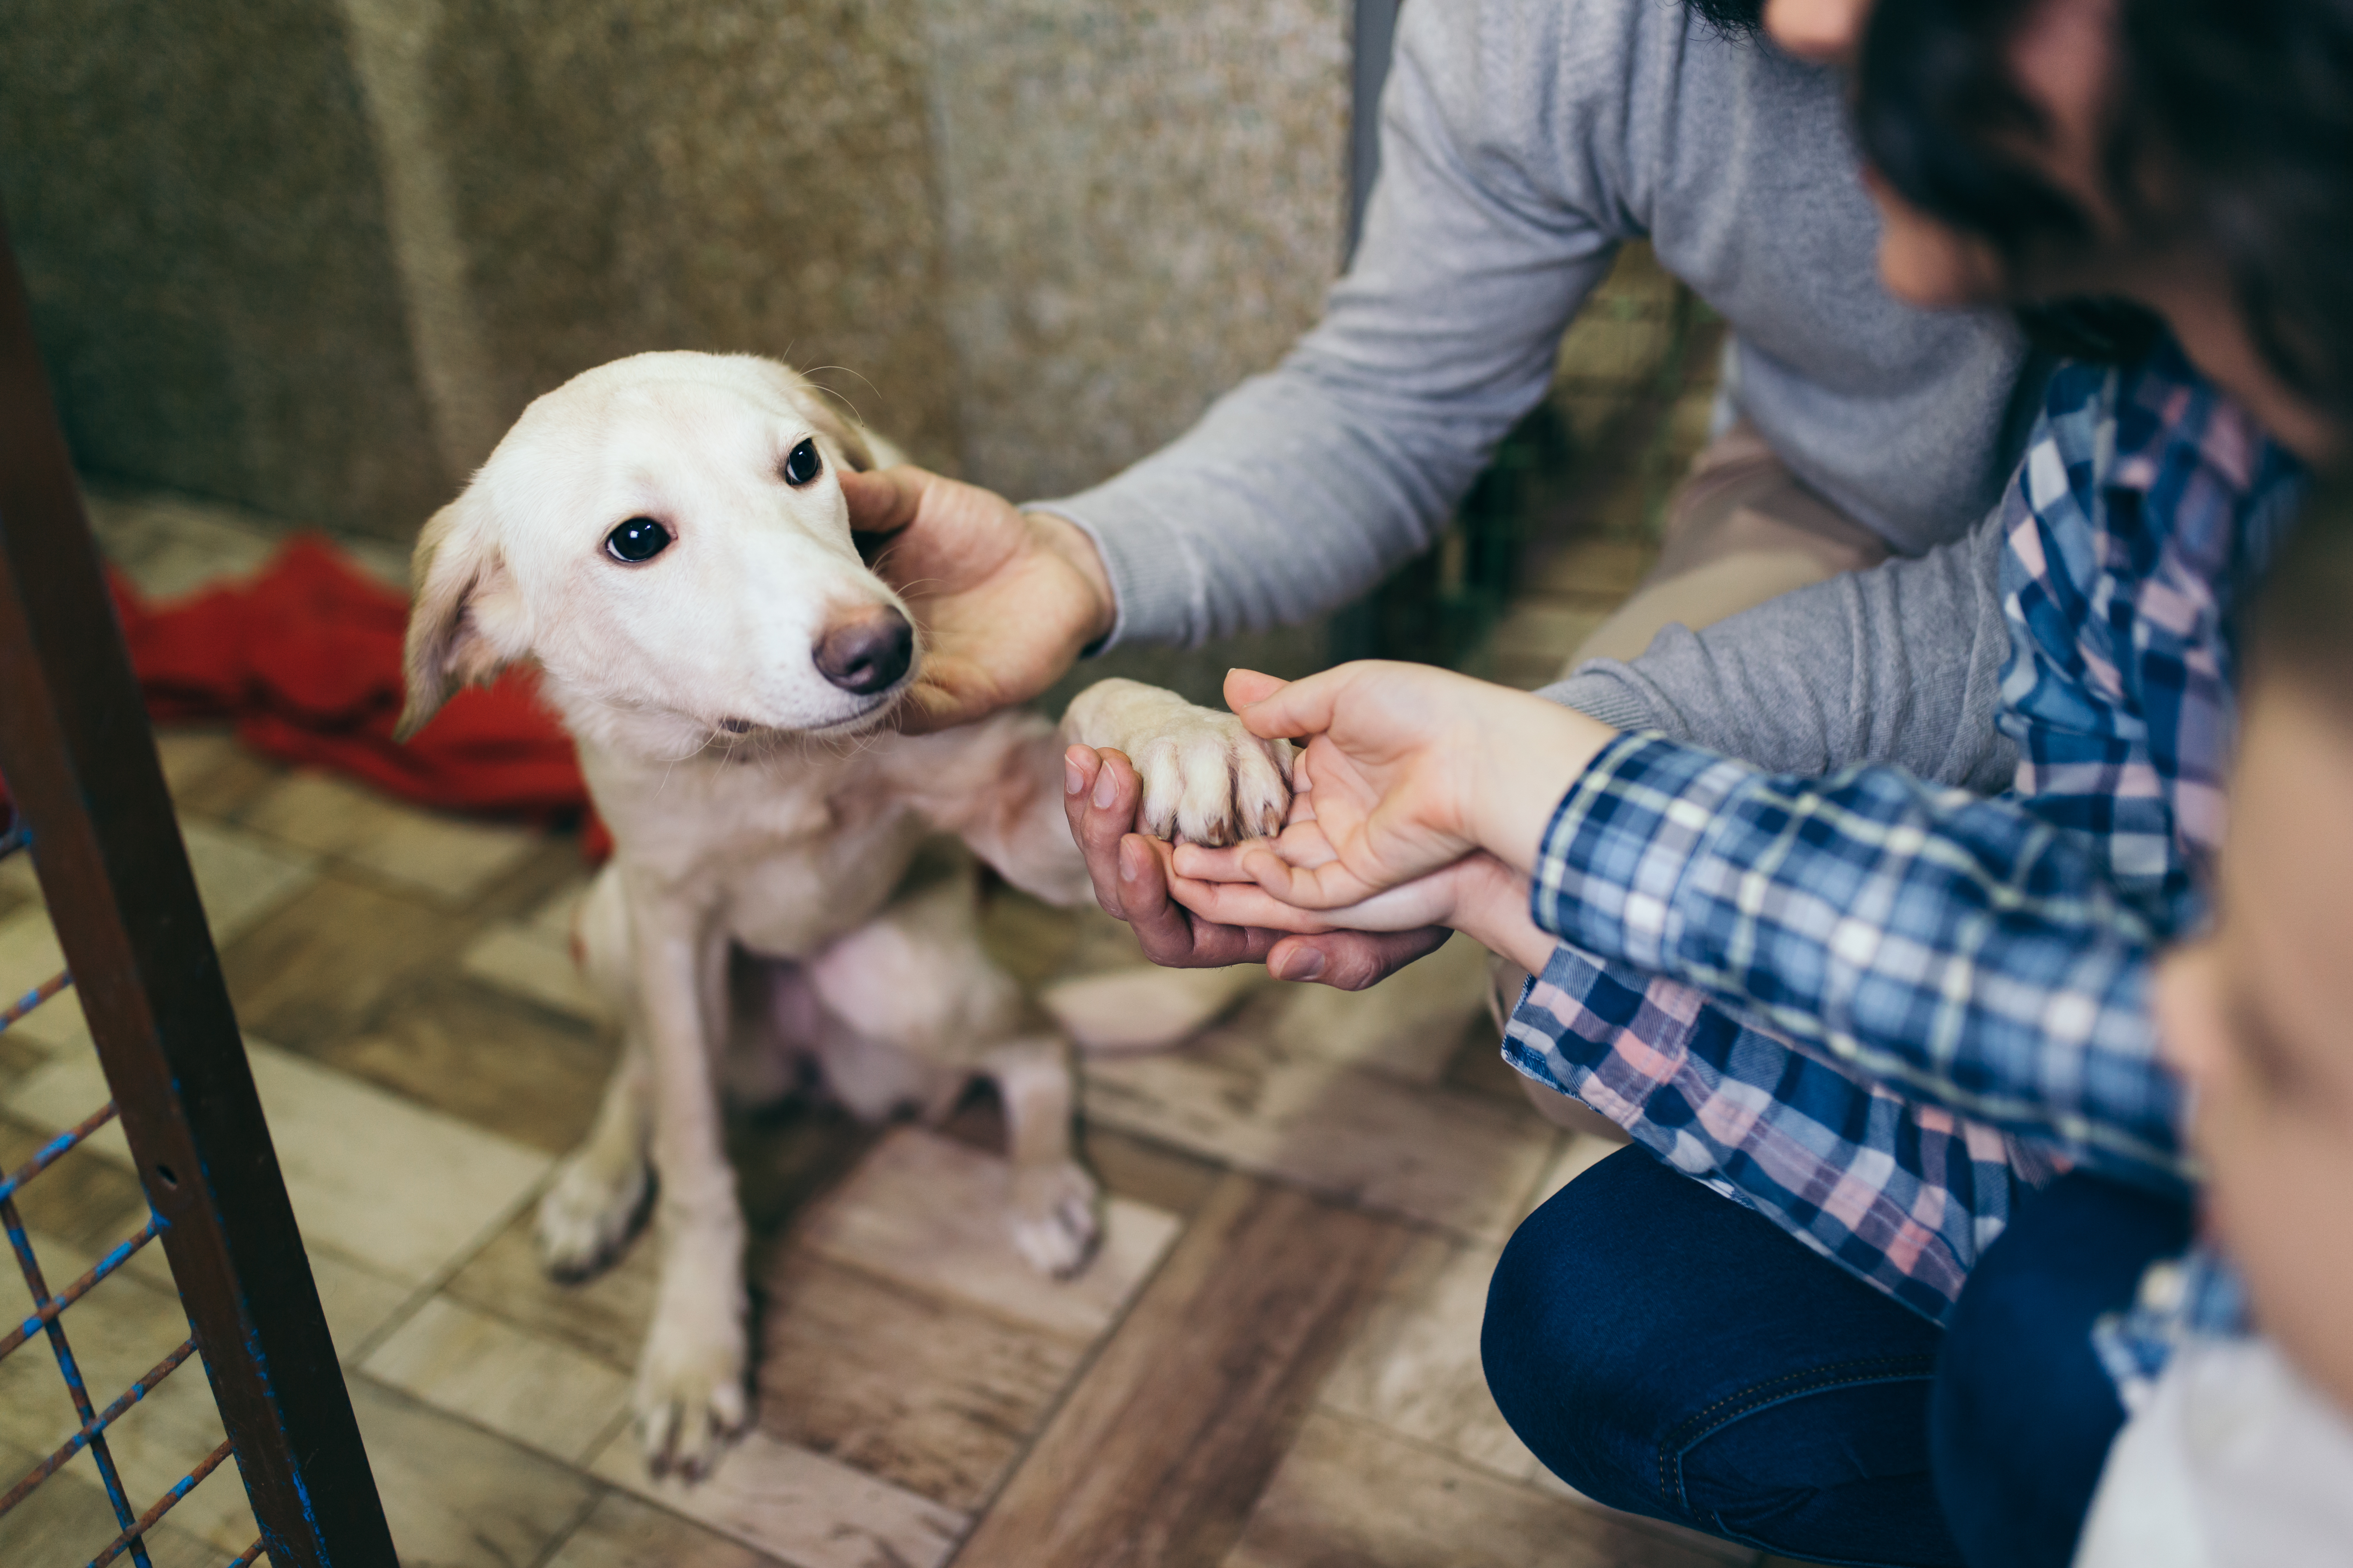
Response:
[[[1626,1150],[1513,1234],[1480,1354],[1513,1432],[1595,1502],[1824,1561],[1944,1566],[1960,1559],[1927,1476],[1937,1338]]]

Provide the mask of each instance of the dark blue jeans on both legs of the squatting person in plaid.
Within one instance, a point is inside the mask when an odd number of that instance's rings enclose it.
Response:
[[[1631,1514],[1824,1563],[2057,1568],[2122,1420],[2092,1319],[2179,1251],[2153,1204],[2061,1180],[1946,1333],[1624,1150],[1504,1248],[1487,1385],[1562,1481]]]

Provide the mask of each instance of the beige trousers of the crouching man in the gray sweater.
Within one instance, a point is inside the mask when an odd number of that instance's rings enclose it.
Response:
[[[1635,658],[1668,625],[1699,630],[1821,583],[1840,571],[1864,571],[1887,559],[1887,543],[1798,482],[1748,421],[1708,442],[1666,501],[1659,559],[1640,588],[1593,628],[1560,670],[1588,658]],[[1497,959],[1497,1020],[1511,1011],[1527,980],[1518,964]],[[1548,1121],[1577,1133],[1621,1140],[1626,1133],[1565,1093],[1529,1077],[1520,1088]]]

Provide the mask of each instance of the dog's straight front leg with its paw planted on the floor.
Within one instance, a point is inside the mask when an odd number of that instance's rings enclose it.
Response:
[[[640,1037],[654,1086],[661,1284],[631,1408],[654,1474],[704,1476],[744,1427],[744,1211],[718,1100],[727,936],[704,910],[633,907]]]

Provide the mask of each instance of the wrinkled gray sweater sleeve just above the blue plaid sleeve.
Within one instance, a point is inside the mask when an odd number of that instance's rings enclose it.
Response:
[[[1774,773],[1887,762],[1981,795],[2009,788],[1995,731],[2009,623],[2000,512],[1873,571],[1786,592],[1633,663],[1595,658],[1541,696],[1617,729],[1657,729]]]

